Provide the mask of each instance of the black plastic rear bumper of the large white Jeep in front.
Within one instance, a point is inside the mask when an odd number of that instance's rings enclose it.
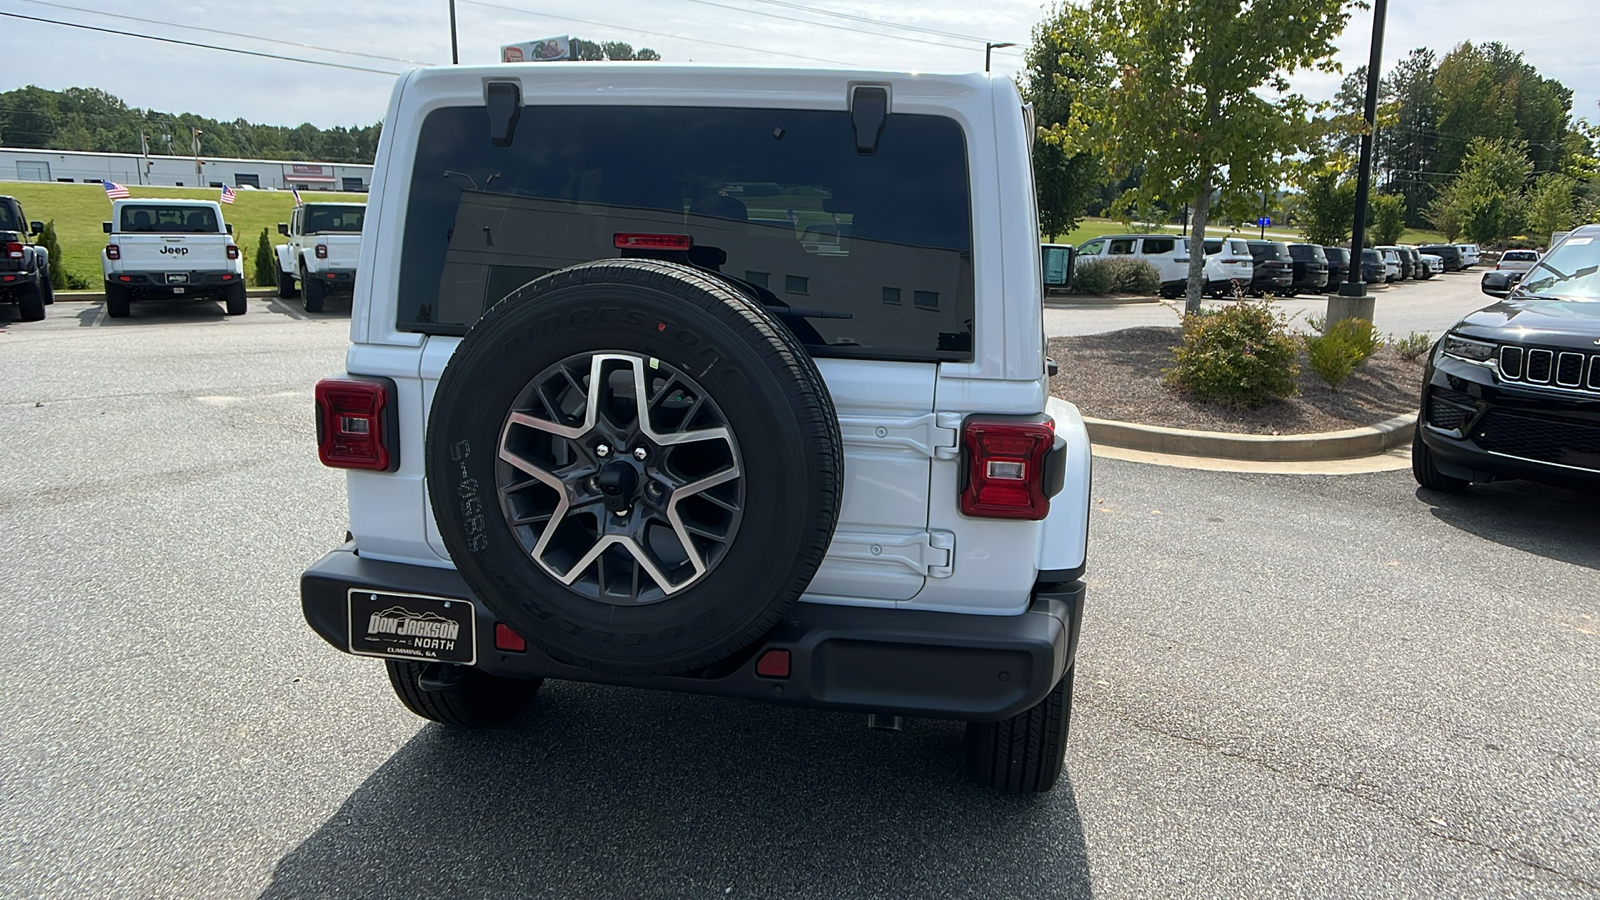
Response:
[[[474,601],[453,569],[362,559],[346,544],[301,575],[306,621],[349,652],[352,589]],[[509,677],[558,677],[717,693],[859,713],[994,721],[1034,706],[1072,668],[1083,623],[1082,581],[1040,586],[1022,615],[955,615],[795,604],[762,641],[733,658],[678,676],[626,676],[570,666],[528,644],[494,649],[493,613],[477,607],[477,668]],[[789,677],[755,674],[768,650],[787,650]]]

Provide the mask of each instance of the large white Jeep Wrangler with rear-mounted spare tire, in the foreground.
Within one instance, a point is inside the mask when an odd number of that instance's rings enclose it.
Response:
[[[350,538],[310,626],[454,725],[546,677],[958,719],[979,781],[1050,790],[1090,444],[1029,119],[986,75],[403,77],[317,386]]]

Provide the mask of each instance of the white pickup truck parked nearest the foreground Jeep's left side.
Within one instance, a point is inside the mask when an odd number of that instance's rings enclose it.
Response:
[[[299,295],[307,312],[322,312],[330,293],[355,290],[355,258],[362,253],[363,203],[306,203],[278,223],[286,243],[274,247],[278,296]],[[298,285],[296,285],[298,282]]]

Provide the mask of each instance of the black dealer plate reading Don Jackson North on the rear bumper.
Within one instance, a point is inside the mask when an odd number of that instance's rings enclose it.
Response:
[[[470,601],[350,589],[350,652],[392,660],[478,660]]]

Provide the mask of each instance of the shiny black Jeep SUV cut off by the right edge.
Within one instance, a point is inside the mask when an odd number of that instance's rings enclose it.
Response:
[[[1418,484],[1534,479],[1600,484],[1600,226],[1581,227],[1501,298],[1445,333],[1422,378]]]

